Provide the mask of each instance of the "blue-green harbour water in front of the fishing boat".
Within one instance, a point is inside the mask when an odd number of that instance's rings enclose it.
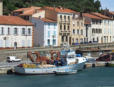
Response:
[[[0,87],[114,87],[114,68],[90,68],[63,76],[0,75]]]

